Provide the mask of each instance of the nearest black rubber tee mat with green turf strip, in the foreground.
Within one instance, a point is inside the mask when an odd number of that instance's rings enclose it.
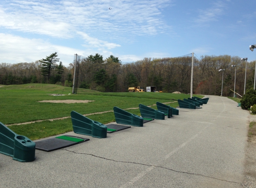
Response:
[[[73,141],[65,140],[65,139],[51,138],[51,139],[46,139],[46,140],[41,140],[41,141],[35,142],[36,149],[49,152],[49,151],[55,151],[55,150],[61,149],[63,147],[73,146],[75,144],[86,142],[86,141],[90,140],[90,139],[80,138],[77,136],[70,136],[70,135],[65,135],[65,136],[83,139],[83,141],[73,142]]]

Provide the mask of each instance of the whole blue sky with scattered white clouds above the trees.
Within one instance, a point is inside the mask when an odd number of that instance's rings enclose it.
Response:
[[[109,9],[112,8],[111,10]],[[1,0],[0,63],[57,52],[144,57],[231,55],[256,60],[255,0]]]

